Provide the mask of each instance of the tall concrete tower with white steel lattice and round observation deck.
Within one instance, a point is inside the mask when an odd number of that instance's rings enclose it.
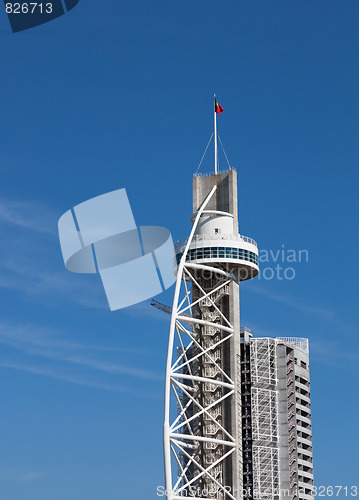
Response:
[[[194,178],[192,231],[176,246],[164,423],[168,500],[193,491],[202,499],[242,495],[238,284],[258,273],[258,249],[236,232],[233,186],[233,170]]]

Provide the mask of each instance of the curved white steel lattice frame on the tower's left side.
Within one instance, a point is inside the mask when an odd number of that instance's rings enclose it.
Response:
[[[188,249],[192,242],[199,219],[202,213],[205,211],[205,208],[209,200],[213,196],[215,190],[216,186],[212,188],[202,206],[200,207],[198,212],[196,212],[192,231],[190,237],[187,240],[187,244],[177,270],[177,281],[173,299],[169,332],[165,382],[164,460],[167,500],[183,499],[183,494],[186,494],[186,492],[188,493],[188,488],[203,477],[207,478],[217,486],[218,491],[222,495],[222,498],[226,500],[235,500],[235,497],[229,491],[227,491],[227,489],[225,489],[223,478],[221,482],[221,480],[218,480],[218,478],[215,477],[215,474],[216,467],[222,464],[223,461],[235,451],[236,442],[230,432],[228,432],[228,430],[225,429],[220,424],[220,422],[218,422],[218,420],[215,420],[215,418],[211,414],[211,409],[214,406],[233,396],[234,382],[225,373],[222,367],[216,363],[216,361],[210,354],[210,351],[214,352],[214,349],[216,347],[223,345],[223,343],[225,342],[229,342],[231,337],[233,337],[233,327],[228,319],[223,315],[222,311],[215,304],[214,297],[215,294],[219,293],[222,288],[228,288],[228,284],[231,281],[235,280],[235,278],[228,272],[220,270],[218,268],[186,262]],[[190,272],[191,270],[194,271],[200,269],[212,271],[213,273],[216,273],[216,275],[222,276],[223,278],[227,279],[224,279],[222,284],[206,293],[201,288],[200,284],[196,281],[193,274]],[[196,286],[199,292],[202,294],[200,298],[195,301],[192,301],[191,290],[188,287],[188,282],[192,282],[193,286]],[[183,290],[184,295],[182,299],[180,299],[181,289]],[[206,321],[203,319],[192,317],[192,307],[199,304],[200,302],[207,303],[213,306],[215,310],[214,312],[215,314],[217,314],[217,318],[221,318],[222,323],[224,324],[214,323],[212,321]],[[210,345],[209,347],[201,345],[197,342],[192,330],[188,329],[187,325],[191,323],[194,326],[201,325],[205,326],[206,328],[215,328],[216,331],[222,331],[223,338],[218,340],[213,345]],[[173,359],[176,357],[175,340],[178,340],[179,355],[173,362]],[[186,343],[187,345],[185,345]],[[197,354],[191,351],[191,348],[193,347],[196,347]],[[211,366],[215,367],[215,370],[217,370],[217,374],[221,375],[222,380],[197,376],[192,373],[191,363],[200,357],[202,357],[202,359],[205,359],[206,363],[212,363]],[[183,369],[185,369],[186,373],[183,373]],[[182,383],[182,381],[186,381],[186,383]],[[190,385],[191,382],[192,386]],[[222,395],[222,397],[217,398],[213,402],[204,404],[204,406],[202,406],[202,404],[197,401],[195,396],[193,395],[195,391],[195,383],[208,384],[208,387],[210,388],[208,390],[211,390],[212,387],[214,388],[214,390],[217,390],[216,388],[218,387],[222,387],[226,389],[227,392]],[[174,399],[171,398],[172,392],[174,394]],[[181,399],[181,395],[185,396],[184,402]],[[172,407],[171,401],[173,401],[177,405],[177,416],[176,418],[174,418],[172,423],[170,421]],[[187,410],[191,405],[191,412],[189,412],[190,415],[188,415]],[[220,439],[209,435],[198,435],[198,433],[196,434],[194,432],[192,425],[196,422],[196,419],[198,419],[198,417],[202,415],[205,416],[209,422],[212,422],[213,426],[218,431],[217,433],[220,433],[221,435]],[[207,434],[207,432],[204,432],[203,434]],[[196,455],[194,452],[200,442],[204,443],[206,449],[216,448],[218,447],[218,445],[221,445],[221,448],[219,448],[219,452],[221,454],[220,456],[218,456],[217,449],[217,455],[215,456],[216,460],[213,463],[203,464],[199,463],[199,461],[196,459]],[[186,450],[189,450],[189,452]],[[172,457],[176,462],[179,470],[178,478],[176,481],[172,477]],[[196,475],[190,478],[189,473],[191,469],[193,470],[193,468],[196,469]],[[196,496],[196,498],[202,498],[203,500],[211,498],[213,500],[213,496],[204,495],[203,492],[200,494],[200,496]]]

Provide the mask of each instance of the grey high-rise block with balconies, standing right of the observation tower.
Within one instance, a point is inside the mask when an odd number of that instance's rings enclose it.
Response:
[[[254,499],[312,499],[308,340],[241,328],[243,487]]]

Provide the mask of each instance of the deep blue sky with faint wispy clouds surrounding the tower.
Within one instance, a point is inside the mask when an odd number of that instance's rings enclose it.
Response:
[[[99,278],[65,270],[57,220],[125,187],[137,224],[186,236],[214,91],[241,232],[309,252],[291,281],[243,284],[242,324],[310,339],[315,483],[356,483],[358,18],[355,0],[81,0],[12,34],[1,9],[3,500],[156,498],[168,318],[110,313]]]

